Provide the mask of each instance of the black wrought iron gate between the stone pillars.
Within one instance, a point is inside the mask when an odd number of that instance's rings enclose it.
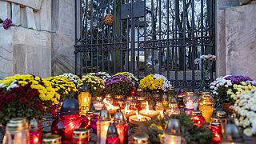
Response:
[[[77,74],[158,73],[193,89],[203,78],[194,59],[215,53],[214,0],[77,0],[76,10]],[[112,25],[103,22],[106,14]]]

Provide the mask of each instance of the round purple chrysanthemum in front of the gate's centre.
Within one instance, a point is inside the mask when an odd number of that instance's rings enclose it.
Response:
[[[106,93],[112,95],[126,96],[127,94],[130,94],[130,90],[133,86],[131,79],[122,74],[113,75],[112,77],[107,78],[105,82]]]

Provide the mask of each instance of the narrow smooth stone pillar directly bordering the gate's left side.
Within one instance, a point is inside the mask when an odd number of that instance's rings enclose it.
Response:
[[[74,1],[52,3],[52,75],[74,73]]]

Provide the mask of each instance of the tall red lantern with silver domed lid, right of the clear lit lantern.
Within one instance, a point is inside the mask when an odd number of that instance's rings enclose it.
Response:
[[[128,123],[120,110],[114,114],[114,124],[118,130],[120,144],[128,143]]]

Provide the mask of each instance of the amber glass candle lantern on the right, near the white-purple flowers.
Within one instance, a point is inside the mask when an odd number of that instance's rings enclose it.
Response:
[[[202,94],[202,98],[198,102],[198,109],[202,111],[202,116],[206,118],[206,122],[210,122],[214,112],[214,100],[210,94]]]

